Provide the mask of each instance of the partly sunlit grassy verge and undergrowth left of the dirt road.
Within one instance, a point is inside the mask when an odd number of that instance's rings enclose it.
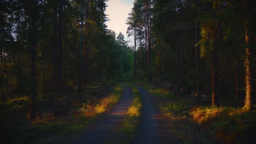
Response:
[[[116,86],[111,94],[106,86],[79,87],[79,92],[54,92],[38,95],[37,113],[33,121],[27,119],[30,110],[28,96],[11,96],[0,103],[1,142],[53,143],[80,133],[94,123],[103,112],[109,112],[123,92]],[[97,96],[96,96],[97,95]]]

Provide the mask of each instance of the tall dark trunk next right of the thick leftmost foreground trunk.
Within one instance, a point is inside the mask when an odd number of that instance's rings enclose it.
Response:
[[[61,93],[62,92],[62,11],[63,11],[63,6],[62,6],[62,0],[60,0],[60,3],[59,3],[59,35],[58,35],[58,38],[59,38],[59,49],[58,49],[58,52],[59,52],[59,74],[58,74],[58,92]]]

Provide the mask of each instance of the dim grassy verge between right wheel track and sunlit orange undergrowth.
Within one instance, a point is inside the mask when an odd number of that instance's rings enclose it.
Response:
[[[213,139],[203,131],[200,125],[190,121],[190,109],[193,98],[180,98],[174,92],[153,85],[143,85],[158,101],[158,109],[163,117],[168,119],[166,129],[174,139],[182,143],[213,143]]]

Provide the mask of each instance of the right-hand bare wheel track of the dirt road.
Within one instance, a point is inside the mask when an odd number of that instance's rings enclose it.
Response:
[[[143,88],[136,88],[141,94],[142,111],[133,143],[182,143],[168,132],[168,119],[160,115],[154,97]]]

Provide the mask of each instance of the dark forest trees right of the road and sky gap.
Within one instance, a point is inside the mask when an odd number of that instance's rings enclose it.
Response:
[[[196,88],[197,95],[211,93],[212,105],[236,95],[234,101],[245,98],[243,105],[251,109],[256,92],[255,65],[251,62],[255,61],[251,48],[256,41],[252,27],[255,7],[251,0],[135,1],[131,17],[137,31],[144,32],[143,41],[139,32],[136,38],[142,46],[139,49],[147,51],[142,55],[147,59],[146,67],[153,71],[153,77],[164,76],[178,83],[181,91]],[[146,75],[150,77],[150,71]]]

